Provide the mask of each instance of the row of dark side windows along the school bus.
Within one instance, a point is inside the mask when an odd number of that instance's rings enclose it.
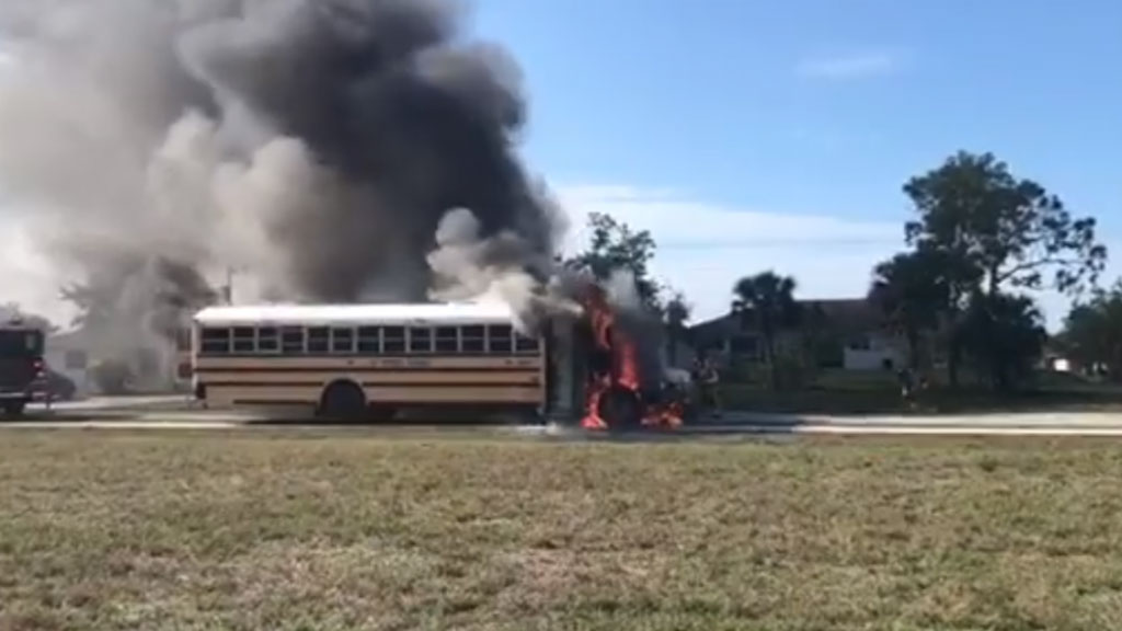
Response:
[[[539,340],[509,324],[470,327],[204,328],[204,355],[402,355],[536,353]]]

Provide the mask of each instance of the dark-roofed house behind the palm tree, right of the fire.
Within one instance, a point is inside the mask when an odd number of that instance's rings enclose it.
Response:
[[[779,331],[778,357],[797,357],[816,367],[891,371],[907,360],[899,336],[883,326],[877,309],[865,299],[799,301],[800,324]],[[766,353],[751,313],[728,313],[690,329],[698,351],[729,365],[765,364]]]

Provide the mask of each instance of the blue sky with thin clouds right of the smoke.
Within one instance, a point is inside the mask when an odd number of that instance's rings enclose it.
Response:
[[[862,293],[903,182],[959,148],[1097,216],[1122,259],[1122,2],[478,0],[475,26],[522,66],[532,167],[577,223],[651,229],[698,317],[766,267]]]

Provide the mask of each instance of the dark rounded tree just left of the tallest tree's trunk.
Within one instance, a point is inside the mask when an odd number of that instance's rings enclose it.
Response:
[[[920,366],[920,339],[939,326],[949,301],[945,257],[929,248],[898,254],[877,265],[868,300],[908,342],[909,364]]]

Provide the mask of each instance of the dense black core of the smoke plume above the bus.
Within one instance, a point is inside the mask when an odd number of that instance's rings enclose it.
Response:
[[[481,238],[552,248],[552,218],[512,150],[517,73],[497,48],[459,40],[454,17],[433,1],[266,2],[181,37],[227,110],[300,139],[331,174],[325,203],[268,226],[302,294],[423,300],[425,255],[456,208]]]

